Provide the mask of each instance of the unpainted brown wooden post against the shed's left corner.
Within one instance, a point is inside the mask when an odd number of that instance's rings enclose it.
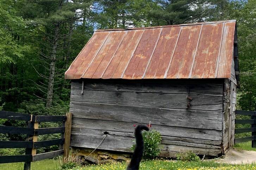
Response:
[[[72,113],[67,113],[67,120],[65,123],[65,143],[64,143],[64,158],[69,156],[69,146],[70,146],[70,136],[71,136],[71,121],[72,121]]]

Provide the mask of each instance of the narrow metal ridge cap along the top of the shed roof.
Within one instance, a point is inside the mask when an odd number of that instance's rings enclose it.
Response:
[[[126,31],[126,30],[146,30],[146,29],[154,29],[154,28],[180,27],[180,26],[189,26],[189,25],[217,24],[217,23],[224,23],[224,22],[236,22],[236,20],[209,21],[209,22],[191,22],[191,23],[187,23],[187,24],[163,25],[163,26],[152,26],[152,27],[100,29],[100,30],[95,30],[95,32],[102,32],[102,31]]]

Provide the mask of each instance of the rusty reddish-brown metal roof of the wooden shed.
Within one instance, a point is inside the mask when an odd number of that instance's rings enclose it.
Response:
[[[236,20],[96,30],[66,79],[230,78]]]

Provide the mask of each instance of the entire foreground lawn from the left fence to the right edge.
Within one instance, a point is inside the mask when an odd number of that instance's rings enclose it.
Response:
[[[0,164],[0,170],[23,170],[24,163]],[[46,159],[32,162],[31,170],[59,170],[58,159]],[[112,163],[101,165],[88,165],[73,170],[125,170],[126,163]],[[213,161],[181,162],[153,160],[141,162],[140,170],[247,170],[256,169],[256,164],[229,165]]]

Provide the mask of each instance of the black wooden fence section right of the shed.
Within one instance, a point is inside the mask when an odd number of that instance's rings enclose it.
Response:
[[[236,115],[249,115],[251,119],[236,119],[235,124],[251,124],[250,128],[235,129],[235,133],[252,132],[252,136],[237,138],[235,143],[251,141],[251,147],[256,148],[256,111],[236,110]]]

